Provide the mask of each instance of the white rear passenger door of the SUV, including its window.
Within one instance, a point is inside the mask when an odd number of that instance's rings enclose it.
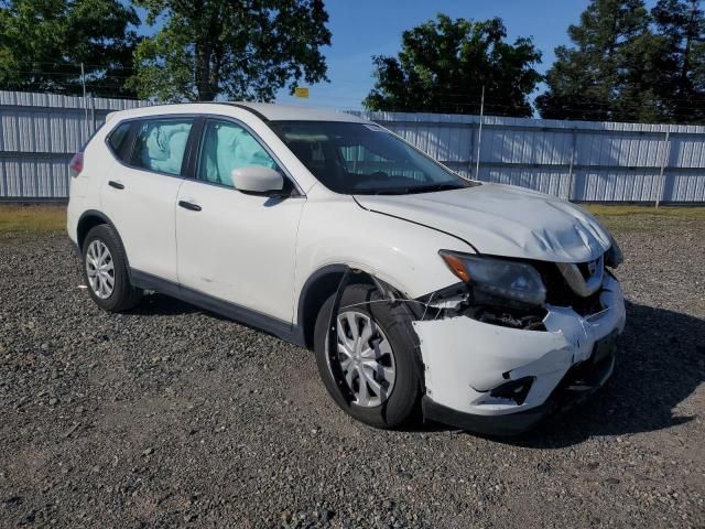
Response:
[[[120,163],[101,190],[102,209],[120,234],[130,268],[173,282],[174,209],[193,125],[193,117],[180,116],[135,120],[130,145],[113,153]]]

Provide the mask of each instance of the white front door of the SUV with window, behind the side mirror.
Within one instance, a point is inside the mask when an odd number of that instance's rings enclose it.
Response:
[[[194,142],[194,175],[178,192],[178,280],[189,289],[290,324],[303,194],[241,122],[209,118]],[[264,165],[284,175],[288,197],[242,193],[230,173]]]

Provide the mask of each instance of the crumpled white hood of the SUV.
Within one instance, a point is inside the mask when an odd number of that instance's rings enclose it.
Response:
[[[523,187],[486,184],[412,195],[356,195],[366,209],[455,235],[480,253],[551,262],[597,259],[611,245],[584,209]]]

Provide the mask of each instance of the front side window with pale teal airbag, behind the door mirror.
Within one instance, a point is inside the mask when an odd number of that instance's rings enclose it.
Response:
[[[198,156],[198,179],[232,186],[234,169],[263,165],[278,169],[276,162],[243,127],[229,121],[206,121]]]

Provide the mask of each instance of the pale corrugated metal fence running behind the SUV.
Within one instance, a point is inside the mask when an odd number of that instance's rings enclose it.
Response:
[[[0,91],[0,199],[65,198],[70,156],[144,101]],[[705,203],[705,127],[352,112],[460,174],[585,202]],[[479,147],[479,176],[476,164]]]

